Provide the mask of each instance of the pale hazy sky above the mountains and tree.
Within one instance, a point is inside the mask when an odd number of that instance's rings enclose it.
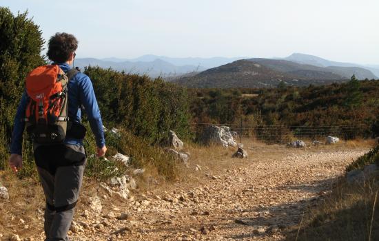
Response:
[[[77,57],[284,57],[379,64],[379,0],[1,0]]]

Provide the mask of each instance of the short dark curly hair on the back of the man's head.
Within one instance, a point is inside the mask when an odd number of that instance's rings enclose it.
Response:
[[[49,40],[48,57],[51,61],[64,63],[68,61],[70,54],[78,48],[78,40],[74,35],[65,32],[57,32]]]

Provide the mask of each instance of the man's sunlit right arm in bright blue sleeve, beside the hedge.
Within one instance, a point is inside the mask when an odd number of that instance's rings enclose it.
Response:
[[[96,139],[98,156],[103,156],[107,150],[105,147],[103,122],[101,121],[99,105],[97,105],[96,96],[94,94],[94,87],[88,76],[85,76],[85,78],[79,82],[79,88],[81,89],[79,91],[80,101],[87,113],[88,121],[90,121],[90,126]]]

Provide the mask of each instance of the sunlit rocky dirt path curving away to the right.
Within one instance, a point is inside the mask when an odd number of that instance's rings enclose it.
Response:
[[[298,224],[367,150],[289,150],[218,174],[203,171],[195,185],[147,191],[101,214],[79,210],[72,240],[282,240],[283,229]]]

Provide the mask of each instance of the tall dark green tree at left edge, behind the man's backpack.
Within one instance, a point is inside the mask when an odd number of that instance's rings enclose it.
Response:
[[[14,16],[9,8],[0,7],[0,169],[4,167],[3,148],[10,142],[23,80],[30,70],[45,63],[41,31],[27,15],[24,12]]]

